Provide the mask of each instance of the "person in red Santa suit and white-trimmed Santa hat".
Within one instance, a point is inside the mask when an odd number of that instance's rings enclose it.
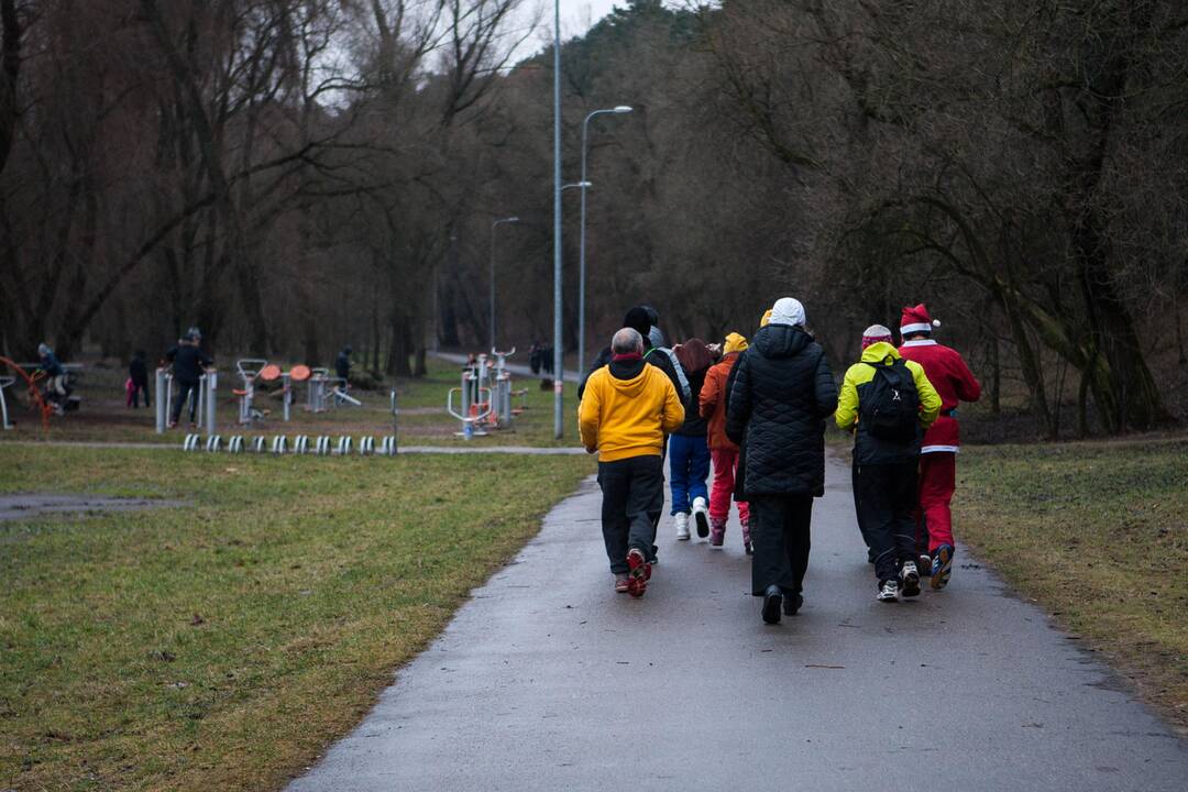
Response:
[[[977,401],[981,386],[961,355],[933,340],[934,322],[923,303],[903,309],[899,354],[924,368],[941,397],[941,416],[924,433],[920,449],[920,513],[928,531],[931,587],[948,585],[953,574],[953,517],[949,501],[956,487],[956,458],[961,449],[956,419],[959,401]]]

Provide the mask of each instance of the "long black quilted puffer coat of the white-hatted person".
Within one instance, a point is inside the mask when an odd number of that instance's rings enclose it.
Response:
[[[747,495],[823,495],[824,419],[838,408],[824,350],[801,328],[769,324],[734,374],[726,435],[746,433]]]

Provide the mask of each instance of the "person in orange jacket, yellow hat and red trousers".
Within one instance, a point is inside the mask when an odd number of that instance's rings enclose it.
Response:
[[[726,336],[722,360],[706,374],[701,386],[699,411],[709,422],[709,458],[714,463],[714,484],[709,492],[709,544],[721,547],[726,540],[726,520],[731,515],[731,495],[734,493],[734,471],[739,446],[726,437],[726,382],[747,342],[738,332]],[[737,501],[739,522],[742,524],[742,550],[751,555],[751,512],[745,501]]]

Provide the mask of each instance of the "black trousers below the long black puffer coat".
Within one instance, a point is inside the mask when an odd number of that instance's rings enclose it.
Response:
[[[769,585],[784,594],[800,594],[809,568],[811,495],[750,496],[751,594],[759,597]]]

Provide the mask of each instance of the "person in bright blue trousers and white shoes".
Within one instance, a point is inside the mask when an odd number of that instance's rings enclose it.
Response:
[[[653,328],[655,329],[655,328]],[[689,539],[689,515],[697,525],[697,536],[709,536],[709,445],[708,422],[697,411],[697,400],[706,375],[714,362],[706,342],[690,338],[672,350],[689,384],[689,403],[684,423],[669,438],[669,487],[672,492],[672,520],[676,538]]]

